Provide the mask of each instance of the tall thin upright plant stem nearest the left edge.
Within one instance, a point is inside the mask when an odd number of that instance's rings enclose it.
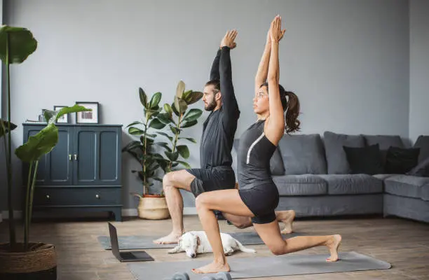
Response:
[[[9,210],[9,235],[13,248],[16,243],[15,219],[13,218],[13,195],[12,195],[12,148],[11,148],[11,80],[9,78],[9,33],[6,32],[6,85],[8,91],[8,150],[6,153],[6,167],[8,172],[8,210]],[[6,138],[5,138],[6,141]]]

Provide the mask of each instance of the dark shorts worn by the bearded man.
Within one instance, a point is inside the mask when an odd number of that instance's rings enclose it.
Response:
[[[195,176],[191,182],[191,192],[195,197],[212,190],[226,190],[236,187],[236,174],[232,167],[212,167],[209,169],[186,169]]]

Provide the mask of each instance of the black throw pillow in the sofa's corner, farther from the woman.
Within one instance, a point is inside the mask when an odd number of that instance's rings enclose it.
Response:
[[[386,155],[387,174],[406,174],[416,167],[420,148],[388,148]]]

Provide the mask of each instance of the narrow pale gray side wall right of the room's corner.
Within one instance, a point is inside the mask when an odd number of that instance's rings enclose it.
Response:
[[[429,1],[409,2],[409,137],[429,134]]]

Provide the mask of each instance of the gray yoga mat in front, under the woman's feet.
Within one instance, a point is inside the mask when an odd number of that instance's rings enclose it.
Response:
[[[356,252],[339,253],[340,260],[326,262],[329,255],[279,255],[272,257],[228,258],[233,279],[352,272],[358,270],[389,269],[383,262]],[[186,272],[191,280],[200,280],[201,274],[193,274],[192,268],[207,265],[212,260],[188,260],[182,262],[133,262],[128,268],[138,280],[171,279],[176,272]],[[212,275],[214,274],[205,274]]]

